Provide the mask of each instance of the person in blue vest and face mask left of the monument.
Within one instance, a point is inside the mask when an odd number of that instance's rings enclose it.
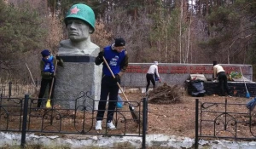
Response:
[[[55,72],[55,64],[58,61],[57,65],[58,66],[63,66],[63,60],[59,56],[53,56],[50,54],[48,49],[44,49],[42,52],[42,60],[40,61],[40,70],[41,70],[41,87],[40,87],[40,92],[38,95],[38,108],[41,107],[42,103],[42,98],[44,97],[45,90],[47,86],[49,86],[50,90],[50,85],[52,83],[53,78],[55,77],[54,72]],[[52,92],[50,95],[50,99],[53,99],[54,97],[54,89],[55,89],[55,79],[52,87]],[[53,102],[50,100],[50,104],[52,105]]]

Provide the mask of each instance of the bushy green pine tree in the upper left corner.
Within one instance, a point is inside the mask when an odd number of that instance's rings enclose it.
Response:
[[[10,75],[23,54],[43,47],[47,31],[41,27],[44,18],[28,3],[15,7],[0,0],[0,7],[0,69]]]

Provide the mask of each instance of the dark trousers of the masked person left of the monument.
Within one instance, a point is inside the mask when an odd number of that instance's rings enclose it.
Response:
[[[52,79],[44,79],[44,78],[42,78],[40,92],[39,92],[39,95],[38,95],[38,106],[37,107],[41,106],[42,98],[44,98],[44,93],[45,93],[45,90],[46,90],[47,86],[49,86],[49,91],[50,91],[51,82],[52,82]],[[51,99],[50,100],[50,104],[51,105],[53,104],[53,100],[52,99],[54,97],[54,90],[55,90],[55,81],[53,83],[53,87],[52,87],[52,91],[51,91],[51,95],[50,95],[50,99]]]

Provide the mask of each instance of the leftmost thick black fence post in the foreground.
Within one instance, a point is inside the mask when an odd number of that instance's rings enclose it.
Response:
[[[29,95],[25,95],[24,106],[23,106],[23,120],[21,129],[21,147],[24,148],[26,144],[26,121],[27,121],[27,108],[28,108]]]

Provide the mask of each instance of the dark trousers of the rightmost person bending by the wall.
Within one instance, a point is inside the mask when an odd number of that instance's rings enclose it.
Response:
[[[230,95],[230,90],[228,87],[228,78],[225,72],[218,72],[218,87],[220,95],[225,95],[225,92]]]

